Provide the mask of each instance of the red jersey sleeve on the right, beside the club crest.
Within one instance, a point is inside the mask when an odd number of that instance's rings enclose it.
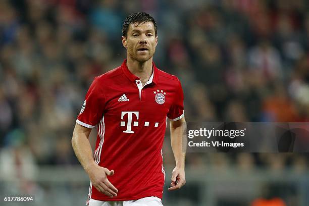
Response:
[[[170,121],[177,121],[184,116],[183,112],[183,90],[180,81],[178,80],[175,98],[167,116]]]

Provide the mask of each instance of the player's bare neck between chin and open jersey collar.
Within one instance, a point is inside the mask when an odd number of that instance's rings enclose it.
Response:
[[[142,83],[146,83],[152,74],[152,57],[142,63],[127,57],[127,67],[132,74],[139,77]]]

